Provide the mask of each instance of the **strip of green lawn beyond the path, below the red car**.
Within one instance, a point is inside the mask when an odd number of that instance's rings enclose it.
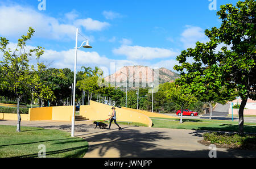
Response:
[[[237,132],[238,122],[227,120],[205,120],[205,119],[166,119],[151,117],[154,128],[173,128],[173,129],[194,129],[194,130],[215,130],[225,132]],[[256,132],[256,123],[246,122],[244,131],[248,133]]]

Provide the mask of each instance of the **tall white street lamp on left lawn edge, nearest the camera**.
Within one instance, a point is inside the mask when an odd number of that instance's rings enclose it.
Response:
[[[86,39],[86,41],[83,41],[81,46],[77,48],[77,39],[78,39],[78,35],[79,35],[79,29],[76,29],[76,50],[75,50],[75,67],[74,67],[74,83],[73,83],[73,115],[72,115],[72,124],[71,124],[71,137],[74,137],[74,129],[75,129],[75,98],[76,98],[76,60],[77,60],[77,49],[83,47],[83,48],[92,48],[89,45],[89,41],[88,39]],[[80,34],[81,35],[81,34]],[[86,43],[84,45],[84,43]]]

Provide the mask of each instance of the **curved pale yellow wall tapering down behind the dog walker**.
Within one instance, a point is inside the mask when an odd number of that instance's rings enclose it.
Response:
[[[86,117],[90,120],[105,120],[109,119],[112,114],[112,106],[90,101],[90,105],[80,105],[80,115]],[[142,113],[135,111],[130,111],[128,109],[116,108],[117,121],[131,121],[131,122],[141,122],[152,126],[152,120]]]

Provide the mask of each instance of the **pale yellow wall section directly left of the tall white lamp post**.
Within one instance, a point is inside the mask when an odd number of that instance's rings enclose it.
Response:
[[[73,106],[52,107],[52,120],[72,121]]]

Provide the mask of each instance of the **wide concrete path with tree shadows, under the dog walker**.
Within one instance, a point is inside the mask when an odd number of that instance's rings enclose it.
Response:
[[[22,121],[22,126],[36,126],[45,129],[59,129],[71,132],[71,122],[64,121]],[[0,125],[16,125],[16,121],[1,121]],[[89,143],[85,158],[91,157],[204,157],[208,158],[208,146],[203,140],[202,130],[147,128],[115,124],[112,130],[94,129],[92,121],[77,121],[75,136]],[[217,157],[256,157],[256,151],[217,148]]]

